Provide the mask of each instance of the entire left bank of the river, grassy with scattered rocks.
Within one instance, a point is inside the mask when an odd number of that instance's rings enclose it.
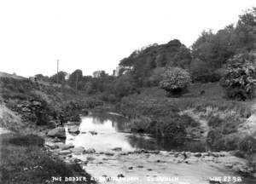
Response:
[[[44,137],[38,135],[68,120],[79,121],[81,109],[101,102],[73,89],[32,83],[26,78],[0,78],[0,86],[0,127],[12,131],[0,135],[0,182],[71,183],[65,182],[65,177],[83,176],[86,182],[72,183],[93,183],[79,164],[66,164],[48,152]],[[52,176],[62,177],[62,181],[51,182]]]

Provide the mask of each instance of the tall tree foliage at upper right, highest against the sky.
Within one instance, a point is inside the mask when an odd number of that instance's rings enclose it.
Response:
[[[192,45],[192,55],[211,70],[224,66],[230,57],[256,49],[256,8],[239,16],[236,24],[213,33],[204,31]]]

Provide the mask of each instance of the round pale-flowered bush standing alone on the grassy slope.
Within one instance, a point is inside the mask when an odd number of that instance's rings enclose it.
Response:
[[[182,68],[170,67],[163,74],[160,88],[165,89],[169,94],[179,94],[188,87],[190,82],[189,72]]]

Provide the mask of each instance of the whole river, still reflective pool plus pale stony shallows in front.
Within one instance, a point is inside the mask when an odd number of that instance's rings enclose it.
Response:
[[[241,158],[230,156],[227,152],[223,153],[223,157],[214,158],[205,154],[198,158],[193,156],[193,152],[207,151],[202,141],[187,141],[183,146],[178,146],[172,144],[172,140],[127,133],[127,122],[128,119],[119,114],[90,113],[82,118],[78,135],[67,132],[67,144],[96,150],[93,154],[73,157],[87,161],[83,165],[84,170],[101,183],[207,184],[212,178],[224,181],[229,177],[230,183],[256,183],[224,166],[230,163],[242,164],[244,160]],[[136,152],[141,149],[160,152]],[[192,156],[183,158],[182,151],[192,152]],[[117,176],[123,180],[113,180]],[[108,177],[112,177],[112,180],[106,181]]]

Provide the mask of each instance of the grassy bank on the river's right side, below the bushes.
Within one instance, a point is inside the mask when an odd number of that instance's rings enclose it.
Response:
[[[243,157],[251,157],[256,148],[255,139],[241,133],[239,128],[255,113],[256,101],[227,100],[218,83],[195,83],[188,91],[178,98],[167,98],[162,89],[142,89],[139,95],[123,98],[117,109],[131,118],[131,128],[135,131],[156,135],[182,132],[181,136],[194,131],[198,135],[200,124],[186,113],[183,116],[178,113],[189,110],[207,122],[207,142],[212,149],[239,150]]]

